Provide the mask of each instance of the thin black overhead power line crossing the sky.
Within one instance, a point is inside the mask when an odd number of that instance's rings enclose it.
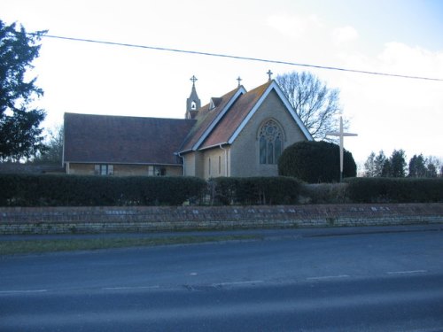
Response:
[[[34,35],[34,34],[30,34],[30,35]],[[124,47],[132,47],[132,48],[147,49],[147,50],[165,50],[165,51],[177,52],[177,53],[204,55],[204,56],[209,56],[209,57],[234,58],[234,59],[238,59],[238,60],[248,60],[248,61],[265,62],[265,63],[278,64],[278,65],[301,66],[301,67],[307,67],[307,68],[335,70],[335,71],[347,72],[347,73],[365,73],[365,74],[370,74],[370,75],[399,77],[399,78],[403,78],[403,79],[412,79],[412,80],[443,81],[443,79],[433,78],[433,77],[413,76],[413,75],[404,75],[404,74],[397,74],[397,73],[370,72],[370,71],[366,71],[366,70],[349,69],[349,68],[342,68],[342,67],[336,67],[336,66],[320,66],[320,65],[300,64],[297,62],[290,62],[290,61],[271,60],[271,59],[266,59],[266,58],[240,57],[240,56],[229,55],[229,54],[202,52],[202,51],[198,51],[198,50],[179,50],[179,49],[171,49],[171,48],[158,47],[158,46],[138,45],[138,44],[133,44],[133,43],[125,43],[125,42],[107,42],[107,41],[97,41],[97,40],[93,40],[93,39],[65,37],[65,36],[61,36],[61,35],[43,35],[43,37],[61,39],[61,40],[73,41],[73,42],[93,42],[93,43],[99,43],[99,44],[105,44],[105,45],[124,46]]]

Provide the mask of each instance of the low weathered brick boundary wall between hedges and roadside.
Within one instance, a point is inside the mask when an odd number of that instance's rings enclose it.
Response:
[[[443,204],[0,207],[0,234],[443,224]]]

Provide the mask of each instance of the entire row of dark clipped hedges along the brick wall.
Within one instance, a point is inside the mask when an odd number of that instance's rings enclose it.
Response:
[[[112,206],[299,203],[443,203],[443,179],[352,178],[302,184],[292,177],[111,177],[0,174],[0,206]],[[207,185],[209,183],[209,185]],[[299,198],[301,197],[301,198]],[[300,201],[301,199],[301,201]]]

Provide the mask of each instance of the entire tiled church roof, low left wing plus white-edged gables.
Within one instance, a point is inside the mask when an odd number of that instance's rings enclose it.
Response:
[[[64,162],[182,165],[177,152],[233,143],[271,91],[312,140],[276,81],[268,81],[249,92],[239,86],[211,98],[192,120],[66,113]]]

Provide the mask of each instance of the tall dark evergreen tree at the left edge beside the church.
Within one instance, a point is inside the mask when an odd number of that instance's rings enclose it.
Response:
[[[24,27],[0,20],[0,161],[19,161],[44,149],[40,123],[45,112],[35,108],[43,90],[26,73],[38,57],[44,31],[27,34]]]

